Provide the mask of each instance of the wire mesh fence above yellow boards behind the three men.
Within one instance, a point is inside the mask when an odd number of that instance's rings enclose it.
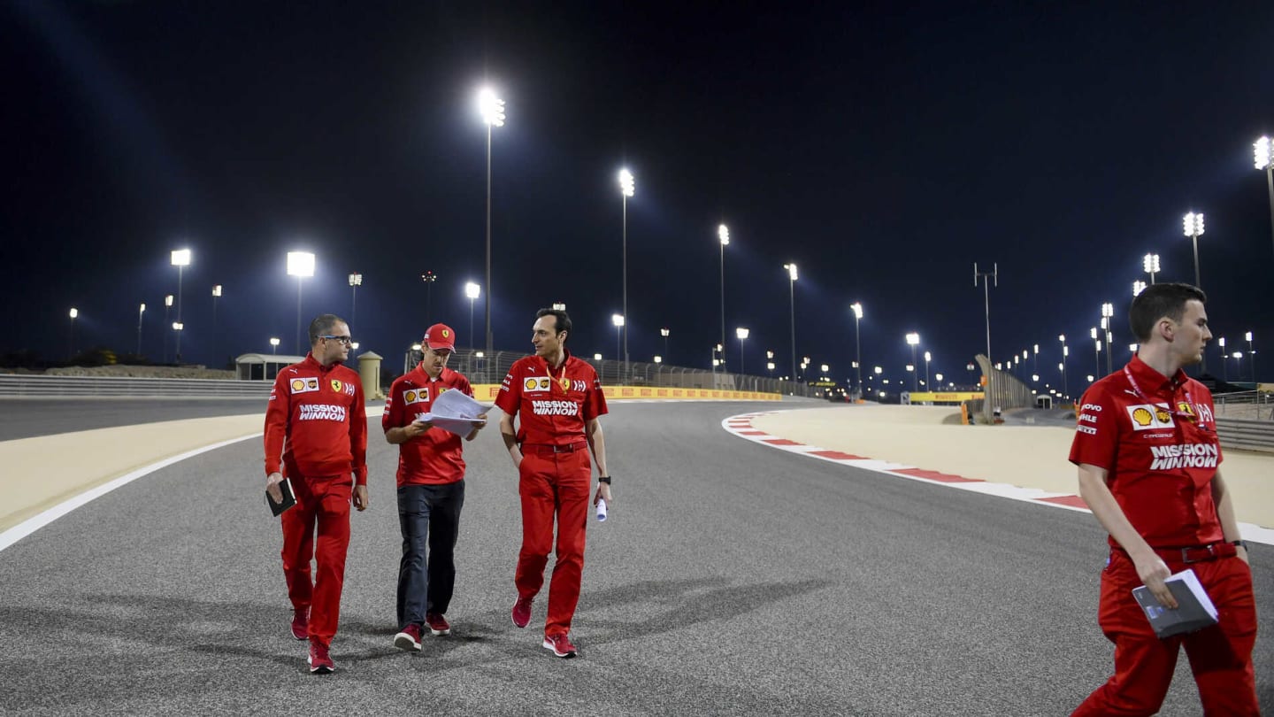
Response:
[[[469,383],[497,384],[505,380],[505,375],[515,361],[526,356],[526,352],[522,351],[497,351],[494,356],[482,357],[478,353],[480,352],[457,347],[447,365],[468,376]],[[598,371],[603,385],[759,390],[785,395],[814,395],[814,389],[806,384],[771,376],[687,369],[643,361],[629,361],[626,371],[623,361],[596,360],[585,356],[578,356],[578,358],[589,362]],[[406,352],[403,357],[403,373],[412,370],[419,361],[419,351]]]

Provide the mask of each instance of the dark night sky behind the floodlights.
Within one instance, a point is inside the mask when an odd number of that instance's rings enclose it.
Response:
[[[71,306],[76,350],[131,352],[145,302],[158,361],[169,251],[186,246],[187,362],[269,352],[271,336],[292,352],[289,250],[317,254],[306,322],[349,318],[347,276],[363,274],[352,329],[390,367],[436,320],[480,346],[484,300],[470,337],[464,285],[484,283],[487,83],[507,103],[492,134],[497,348],[529,352],[535,309],[561,301],[569,346],[615,356],[628,167],[633,361],[664,353],[668,327],[665,361],[708,367],[724,222],[733,370],[741,325],[748,373],[766,350],[789,373],[795,262],[798,356],[852,376],[861,301],[864,375],[903,378],[919,332],[931,370],[967,380],[986,344],[977,262],[999,265],[992,358],[1040,344],[1056,384],[1066,334],[1074,390],[1096,370],[1102,302],[1126,358],[1144,254],[1159,281],[1192,281],[1194,211],[1213,330],[1227,351],[1255,332],[1274,379],[1274,240],[1252,166],[1274,134],[1274,3],[4,0],[0,37],[0,352],[65,358]]]

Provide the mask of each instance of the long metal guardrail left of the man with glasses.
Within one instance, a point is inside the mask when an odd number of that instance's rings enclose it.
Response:
[[[270,398],[274,381],[0,375],[0,398]],[[264,408],[262,408],[264,411]]]

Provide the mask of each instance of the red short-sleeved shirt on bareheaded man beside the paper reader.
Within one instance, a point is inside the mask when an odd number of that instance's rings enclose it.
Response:
[[[578,443],[586,439],[585,424],[606,413],[598,371],[562,351],[566,361],[558,369],[550,369],[539,356],[519,358],[499,387],[496,406],[519,416],[519,444]]]

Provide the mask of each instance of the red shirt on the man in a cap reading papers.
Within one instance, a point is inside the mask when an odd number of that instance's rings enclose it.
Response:
[[[419,365],[399,376],[385,399],[381,427],[401,429],[429,412],[433,399],[445,390],[474,392],[464,374],[446,366],[437,379],[431,379]],[[397,487],[405,485],[454,484],[465,477],[461,438],[442,429],[429,429],[399,444]]]

